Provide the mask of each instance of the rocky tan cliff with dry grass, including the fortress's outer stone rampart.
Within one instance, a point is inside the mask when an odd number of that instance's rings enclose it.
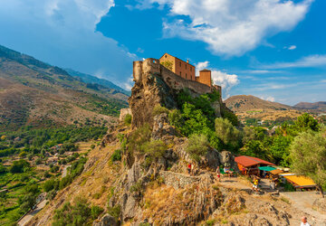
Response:
[[[76,197],[103,208],[92,222],[98,226],[300,223],[304,212],[280,197],[252,194],[245,179],[216,182],[218,165],[236,168],[232,153],[206,146],[196,160],[189,155],[190,141],[170,125],[170,112],[178,108],[180,90],[197,97],[212,89],[181,79],[155,59],[135,62],[134,79],[129,98],[131,125],[126,126],[121,118],[120,126],[111,128],[101,145],[91,150],[82,174],[59,191],[29,225],[51,225],[57,221],[55,210],[66,202],[73,204]],[[216,117],[227,111],[221,99],[211,104]],[[188,163],[195,165],[195,175],[187,174]],[[313,221],[326,225],[320,219]]]

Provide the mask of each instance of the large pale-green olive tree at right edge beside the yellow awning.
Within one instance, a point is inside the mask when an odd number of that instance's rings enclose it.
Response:
[[[322,197],[326,185],[326,129],[307,131],[295,137],[290,148],[292,170],[306,175],[317,184]]]

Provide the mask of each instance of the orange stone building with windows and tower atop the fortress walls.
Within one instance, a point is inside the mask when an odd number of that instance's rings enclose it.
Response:
[[[204,69],[199,71],[199,76],[196,76],[196,67],[190,64],[189,60],[182,61],[177,57],[165,53],[161,58],[159,58],[159,63],[183,79],[195,80],[209,86],[210,88],[214,87],[222,93],[221,87],[213,84],[212,71]]]

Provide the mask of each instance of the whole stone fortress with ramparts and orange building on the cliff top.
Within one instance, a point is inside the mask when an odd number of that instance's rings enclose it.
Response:
[[[199,76],[196,76],[194,65],[168,53],[165,53],[159,60],[148,58],[144,61],[134,61],[134,81],[142,80],[142,74],[147,73],[159,74],[173,89],[192,89],[197,94],[217,90],[222,96],[222,88],[213,83],[211,71],[205,69],[199,71]]]

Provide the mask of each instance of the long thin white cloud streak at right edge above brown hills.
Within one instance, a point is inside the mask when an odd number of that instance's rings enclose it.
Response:
[[[325,55],[310,55],[292,62],[275,62],[260,66],[263,69],[283,69],[283,68],[310,68],[326,66]]]

